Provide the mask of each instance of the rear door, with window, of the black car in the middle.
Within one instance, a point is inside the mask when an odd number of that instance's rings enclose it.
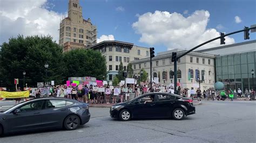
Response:
[[[175,102],[175,96],[165,93],[158,93],[156,95],[156,105],[155,109],[157,110],[157,117],[170,117],[170,112],[172,106]]]

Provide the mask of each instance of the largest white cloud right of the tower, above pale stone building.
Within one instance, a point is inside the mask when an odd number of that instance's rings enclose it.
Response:
[[[197,10],[189,17],[180,13],[167,11],[147,12],[132,24],[137,34],[141,34],[140,42],[153,45],[165,45],[168,49],[190,49],[207,40],[220,35],[214,28],[206,29],[210,13]],[[234,39],[225,37],[226,44],[233,44]],[[215,40],[199,48],[220,46],[220,41]]]

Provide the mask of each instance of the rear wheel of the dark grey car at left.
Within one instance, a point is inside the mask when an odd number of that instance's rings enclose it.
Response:
[[[64,120],[64,127],[66,130],[76,130],[80,125],[80,119],[76,115],[69,115]]]

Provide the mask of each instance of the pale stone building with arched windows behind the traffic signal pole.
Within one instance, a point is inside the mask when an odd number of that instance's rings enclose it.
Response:
[[[172,52],[177,52],[177,55],[181,55],[186,51],[183,49],[173,49],[160,52],[152,58],[152,78],[158,77],[159,83],[163,85],[174,84],[174,66],[171,61]],[[191,52],[178,60],[177,78],[181,87],[198,87],[199,80],[201,90],[214,87],[214,59],[215,56],[212,54]],[[132,61],[131,63],[134,73],[139,73],[140,70],[145,69],[150,77],[150,58]]]

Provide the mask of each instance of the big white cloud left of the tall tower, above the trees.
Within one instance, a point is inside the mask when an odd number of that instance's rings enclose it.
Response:
[[[10,37],[16,37],[18,34],[49,34],[57,41],[62,14],[48,10],[53,6],[46,0],[23,0],[12,3],[9,0],[1,0],[0,43],[8,42]]]

